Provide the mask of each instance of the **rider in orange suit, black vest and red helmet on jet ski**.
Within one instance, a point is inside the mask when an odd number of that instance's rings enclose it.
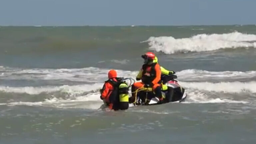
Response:
[[[161,68],[158,63],[154,63],[155,54],[152,52],[147,52],[141,56],[144,59],[144,64],[136,77],[136,80],[141,80],[141,82],[136,82],[132,85],[132,97],[130,102],[135,99],[135,91],[142,87],[152,87],[155,92],[158,101],[163,100],[161,92]]]

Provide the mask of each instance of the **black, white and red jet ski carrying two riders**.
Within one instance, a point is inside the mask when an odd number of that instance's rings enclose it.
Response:
[[[164,103],[179,103],[186,99],[186,90],[180,86],[179,82],[175,80],[176,75],[162,75],[161,82],[165,85],[166,89],[162,87],[162,97],[163,100],[155,96],[152,88],[140,88],[136,90],[135,100],[133,104],[136,105],[157,105]]]

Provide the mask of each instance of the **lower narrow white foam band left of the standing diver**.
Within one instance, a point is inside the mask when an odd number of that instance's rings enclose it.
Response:
[[[40,94],[50,92],[65,92],[69,94],[82,94],[92,90],[97,90],[102,87],[103,83],[95,83],[92,85],[62,85],[62,86],[45,86],[45,87],[5,87],[1,86],[0,91],[8,93],[27,93],[27,94]]]

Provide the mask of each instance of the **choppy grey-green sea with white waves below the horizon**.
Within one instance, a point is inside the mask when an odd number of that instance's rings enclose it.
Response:
[[[155,52],[188,97],[101,109]],[[256,26],[0,27],[0,143],[256,142]]]

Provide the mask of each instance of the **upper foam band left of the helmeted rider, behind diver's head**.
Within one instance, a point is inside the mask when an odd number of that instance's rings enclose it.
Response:
[[[117,61],[116,61],[117,62]],[[118,61],[119,63],[127,61]],[[21,69],[0,67],[4,76],[1,79],[22,79],[22,80],[68,80],[78,82],[99,82],[107,79],[110,69],[103,68],[80,68],[80,69]],[[117,70],[118,77],[135,77],[136,72]]]

